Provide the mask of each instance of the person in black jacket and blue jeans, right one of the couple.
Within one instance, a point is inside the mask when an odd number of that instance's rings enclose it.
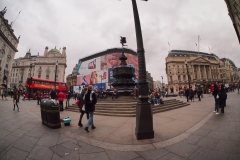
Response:
[[[89,132],[88,127],[90,125],[92,125],[92,129],[96,128],[93,123],[93,113],[95,111],[95,104],[97,103],[97,97],[92,90],[93,90],[92,85],[89,85],[87,94],[85,94],[85,110],[89,113],[89,119],[85,127],[85,131],[87,132]]]

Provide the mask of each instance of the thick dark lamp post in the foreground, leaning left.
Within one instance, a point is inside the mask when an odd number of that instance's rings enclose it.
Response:
[[[147,0],[145,0],[147,1]],[[138,15],[136,0],[132,0],[133,15],[136,30],[137,54],[139,64],[139,101],[136,107],[136,128],[137,140],[154,138],[152,108],[148,103],[148,82],[146,78],[146,63],[142,40],[142,31]]]

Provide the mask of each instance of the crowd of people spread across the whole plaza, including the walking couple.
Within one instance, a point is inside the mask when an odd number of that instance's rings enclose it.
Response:
[[[231,88],[229,90],[228,88],[225,88],[224,85],[218,85],[218,84],[214,84],[213,91],[209,89],[209,95],[213,95],[214,101],[215,101],[215,106],[213,111],[215,114],[218,115],[219,112],[224,113],[224,108],[226,107],[227,92],[228,91],[234,92],[234,89],[235,88]],[[239,87],[237,87],[237,89],[239,94]],[[19,111],[18,103],[19,103],[19,98],[21,94],[23,95],[23,97],[25,97],[26,93],[25,91],[21,91],[20,89],[17,89],[16,86],[14,86],[13,89],[11,90],[11,97],[13,98],[13,107],[14,107],[13,110],[17,108],[17,110]],[[40,91],[36,91],[34,94],[37,99],[37,104],[39,105],[44,93]],[[103,94],[104,93],[102,92],[102,96]],[[105,94],[107,95],[107,93]],[[203,91],[201,87],[198,87],[198,88],[196,87],[194,90],[190,87],[190,88],[186,88],[184,91],[179,92],[179,96],[180,97],[185,96],[187,99],[187,102],[189,101],[194,102],[195,98],[198,98],[198,101],[201,101],[202,94],[203,94]],[[134,98],[138,97],[138,90],[136,87],[133,89],[133,92],[131,93],[131,95]],[[5,99],[7,97],[6,91],[3,89],[1,90],[1,96],[2,96],[2,100],[4,97]],[[83,88],[81,93],[75,93],[75,92],[71,93],[70,91],[67,91],[67,93],[63,93],[62,91],[57,92],[53,87],[53,89],[49,92],[49,96],[51,99],[59,101],[60,111],[64,110],[63,101],[65,99],[66,99],[65,108],[69,107],[69,100],[71,98],[79,101],[80,103],[77,104],[80,111],[78,126],[79,127],[83,126],[82,118],[84,114],[86,114],[87,123],[84,130],[86,132],[89,132],[90,126],[92,129],[96,128],[94,125],[93,116],[95,111],[95,104],[97,103],[97,99],[101,97],[101,93],[98,91],[94,92],[92,85],[89,85]],[[112,92],[112,99],[118,98],[118,96],[119,94],[117,89],[114,89],[114,91]],[[153,106],[165,104],[165,102],[163,101],[163,98],[164,98],[164,94],[161,94],[161,92],[149,90],[149,103],[151,103]]]

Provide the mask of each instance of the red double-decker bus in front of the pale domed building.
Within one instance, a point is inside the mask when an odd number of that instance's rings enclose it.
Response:
[[[36,98],[36,92],[40,91],[42,98],[44,98],[44,95],[49,95],[49,92],[52,90],[56,83],[56,91],[60,92],[62,91],[66,97],[66,82],[59,82],[59,81],[52,81],[47,79],[41,79],[41,78],[33,78],[28,77],[26,82],[26,88],[27,93],[25,95],[25,98]],[[29,96],[30,95],[30,96]]]

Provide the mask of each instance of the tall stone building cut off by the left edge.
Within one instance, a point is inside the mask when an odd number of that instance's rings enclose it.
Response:
[[[15,53],[20,37],[16,37],[12,28],[12,23],[4,18],[6,7],[0,12],[0,83],[4,87],[10,87],[9,75],[13,64]]]

